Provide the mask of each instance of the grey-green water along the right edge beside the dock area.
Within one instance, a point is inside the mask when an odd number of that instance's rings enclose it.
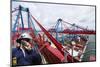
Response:
[[[87,48],[85,50],[84,56],[82,61],[90,61],[90,56],[96,56],[96,36],[95,35],[89,35],[89,41],[87,44]]]

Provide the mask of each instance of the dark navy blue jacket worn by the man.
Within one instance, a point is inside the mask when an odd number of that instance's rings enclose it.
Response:
[[[12,49],[13,65],[38,65],[41,64],[42,59],[40,54],[32,49],[31,51],[25,50],[25,56],[20,48]]]

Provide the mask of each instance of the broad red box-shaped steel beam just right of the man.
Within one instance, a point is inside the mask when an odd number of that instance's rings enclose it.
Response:
[[[61,54],[61,52],[57,48],[53,48],[50,46],[50,44],[47,42],[44,44],[45,47],[42,48],[40,51],[43,56],[45,57],[46,61],[50,63],[61,63],[64,61],[64,56]]]

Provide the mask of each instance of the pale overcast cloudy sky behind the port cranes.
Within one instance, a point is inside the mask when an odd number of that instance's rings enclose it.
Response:
[[[84,28],[95,30],[95,7],[64,5],[64,4],[47,4],[47,3],[29,3],[29,2],[12,2],[12,10],[19,5],[29,8],[30,13],[40,22],[45,29],[54,27],[57,19],[62,18],[71,24],[82,26]],[[16,20],[18,12],[12,13],[12,27]],[[25,26],[27,26],[26,14],[23,12]],[[33,21],[34,22],[34,21]],[[34,22],[35,28],[40,30]],[[64,24],[69,27],[68,24]],[[64,26],[65,27],[65,26]],[[65,27],[65,28],[67,28]]]

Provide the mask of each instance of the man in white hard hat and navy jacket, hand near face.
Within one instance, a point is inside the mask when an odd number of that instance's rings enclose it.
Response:
[[[17,40],[20,47],[12,49],[12,64],[13,65],[37,65],[41,64],[42,59],[39,51],[32,48],[32,38],[28,33],[23,33]],[[34,43],[33,43],[34,45]]]

